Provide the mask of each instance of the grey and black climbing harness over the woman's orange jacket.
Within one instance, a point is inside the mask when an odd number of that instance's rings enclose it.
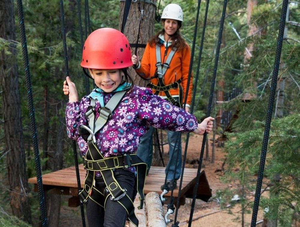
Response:
[[[176,48],[172,48],[168,57],[164,63],[161,63],[161,48],[159,45],[155,45],[155,52],[156,52],[156,73],[152,78],[158,78],[158,84],[155,85],[153,83],[148,83],[146,86],[152,89],[155,89],[155,95],[158,95],[159,92],[164,92],[167,96],[167,100],[175,106],[182,107],[182,98],[183,98],[183,89],[180,85],[181,79],[173,82],[171,84],[165,85],[164,84],[164,74],[166,73],[167,69],[170,67],[170,62],[176,52]],[[179,88],[179,101],[177,101],[172,95],[170,95],[170,89]]]

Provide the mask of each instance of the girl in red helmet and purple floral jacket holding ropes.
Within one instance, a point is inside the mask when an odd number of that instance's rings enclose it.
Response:
[[[134,155],[140,137],[149,126],[209,133],[214,118],[198,124],[193,115],[153,95],[151,89],[133,86],[126,72],[132,65],[129,42],[116,29],[92,32],[80,65],[88,68],[96,88],[79,101],[76,86],[67,77],[63,92],[69,95],[67,134],[77,140],[87,170],[79,195],[86,203],[88,225],[119,227],[126,219],[138,225],[132,201],[136,188],[143,200],[146,174],[145,163]]]

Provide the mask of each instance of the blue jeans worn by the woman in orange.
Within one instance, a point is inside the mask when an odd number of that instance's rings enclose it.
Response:
[[[149,131],[140,137],[140,143],[137,148],[137,156],[140,157],[140,159],[143,160],[143,162],[146,162],[148,165],[148,170],[151,166],[152,162],[152,155],[153,155],[153,134],[154,134],[155,128],[149,127]],[[167,137],[168,137],[168,144],[169,144],[169,162],[166,166],[166,175],[167,180],[173,180],[174,172],[175,172],[175,180],[178,180],[180,177],[181,172],[181,132],[173,132],[173,131],[167,131]],[[176,144],[176,148],[174,150]],[[174,151],[173,158],[172,154]],[[178,155],[177,155],[178,154]],[[178,156],[178,159],[177,159]],[[177,166],[176,166],[177,163]],[[176,167],[176,169],[175,169]],[[167,171],[169,168],[169,171]]]

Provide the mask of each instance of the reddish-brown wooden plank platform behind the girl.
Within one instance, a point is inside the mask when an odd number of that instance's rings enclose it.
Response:
[[[197,169],[184,169],[180,204],[185,204],[185,198],[191,197],[193,195],[193,190],[196,182]],[[83,187],[85,179],[85,170],[83,165],[79,165],[79,175],[81,187]],[[51,193],[57,193],[62,195],[71,195],[72,198],[69,199],[69,206],[76,207],[79,205],[78,199],[78,187],[76,180],[75,167],[69,167],[66,169],[58,170],[52,173],[44,174],[42,176],[43,188],[45,191],[50,191]],[[144,193],[157,192],[161,194],[161,186],[164,184],[165,180],[165,168],[152,166],[150,168],[149,174],[146,177],[146,183],[144,187]],[[35,184],[35,191],[37,191],[37,179],[32,177],[28,180],[29,183]],[[177,182],[179,186],[179,181]],[[165,197],[168,198],[171,192],[168,192]],[[174,189],[173,196],[175,197],[174,203],[177,201],[178,188]],[[202,171],[199,179],[199,187],[197,190],[197,198],[207,201],[211,197],[211,189],[209,188],[208,181],[205,176],[205,172]],[[169,201],[169,200],[167,200]]]

